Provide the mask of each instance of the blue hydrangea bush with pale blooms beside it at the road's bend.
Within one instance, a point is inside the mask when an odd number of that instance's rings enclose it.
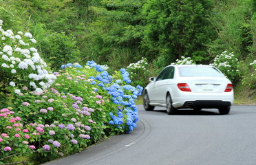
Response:
[[[58,76],[56,83],[59,86],[56,88],[82,97],[98,97],[98,101],[87,99],[85,104],[96,109],[94,118],[101,118],[98,121],[102,121],[106,126],[105,133],[124,133],[136,127],[138,109],[135,100],[142,94],[142,87],[129,85],[131,80],[126,69],[120,69],[115,74],[109,75],[107,67],[98,65],[94,61],[87,61],[85,67],[77,67],[77,64],[64,66],[67,65],[63,65],[65,72]],[[91,96],[91,94],[97,95]]]

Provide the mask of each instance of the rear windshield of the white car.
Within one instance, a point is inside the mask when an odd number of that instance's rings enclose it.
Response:
[[[215,67],[179,67],[180,77],[223,77]]]

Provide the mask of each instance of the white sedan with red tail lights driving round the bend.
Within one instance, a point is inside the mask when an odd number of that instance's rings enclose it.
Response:
[[[166,107],[168,114],[216,108],[228,114],[234,101],[231,81],[211,65],[169,65],[149,81],[143,91],[146,111],[155,106]]]

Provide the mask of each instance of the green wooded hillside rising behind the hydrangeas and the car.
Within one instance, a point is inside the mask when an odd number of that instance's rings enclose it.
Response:
[[[119,69],[143,57],[156,71],[181,56],[209,64],[227,51],[243,63],[236,82],[246,77],[248,83],[255,72],[249,66],[255,60],[253,0],[8,0],[0,5],[3,28],[30,31],[53,70],[86,61]]]

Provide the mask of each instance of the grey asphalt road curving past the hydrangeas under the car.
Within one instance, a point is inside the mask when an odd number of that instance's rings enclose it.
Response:
[[[140,120],[131,134],[47,165],[256,165],[256,106],[233,106],[229,115],[217,109],[177,115],[162,107],[138,109]]]

